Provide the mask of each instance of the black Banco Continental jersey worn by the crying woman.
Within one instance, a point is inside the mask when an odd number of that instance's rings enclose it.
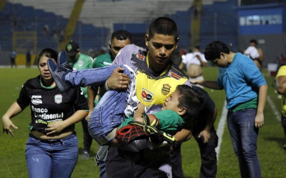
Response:
[[[75,111],[88,110],[86,98],[80,88],[61,93],[57,87],[44,87],[41,80],[40,75],[27,80],[17,99],[22,110],[30,105],[32,123],[63,121]],[[74,124],[69,127],[74,127]]]

